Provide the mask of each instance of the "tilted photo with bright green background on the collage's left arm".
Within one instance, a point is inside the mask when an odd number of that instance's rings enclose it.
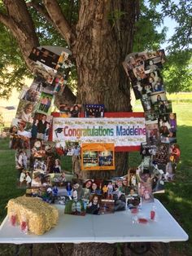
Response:
[[[50,95],[46,92],[41,92],[41,96],[36,107],[37,112],[49,114],[53,97],[54,97],[53,95]]]

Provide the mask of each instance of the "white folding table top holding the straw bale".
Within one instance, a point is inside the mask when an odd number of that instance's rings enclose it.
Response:
[[[155,206],[155,220],[150,220],[152,206]],[[59,223],[42,236],[24,234],[20,227],[11,227],[6,217],[0,227],[0,243],[117,243],[117,242],[164,242],[187,241],[188,235],[168,213],[159,200],[143,204],[138,214],[129,210],[114,214],[90,215],[85,217],[63,214],[59,205]],[[149,218],[148,223],[137,223],[136,216]]]

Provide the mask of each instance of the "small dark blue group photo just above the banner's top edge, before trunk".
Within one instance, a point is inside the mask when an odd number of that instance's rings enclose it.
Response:
[[[85,117],[104,117],[105,107],[103,104],[85,104]]]

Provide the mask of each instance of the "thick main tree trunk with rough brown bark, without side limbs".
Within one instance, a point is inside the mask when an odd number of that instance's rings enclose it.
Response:
[[[92,0],[81,4],[72,48],[78,74],[77,104],[105,104],[107,112],[132,111],[122,62],[133,48],[136,9],[137,1]],[[116,12],[123,14],[118,18],[113,16]],[[127,168],[128,153],[116,153],[116,170],[85,171],[83,176],[110,179],[125,174]]]

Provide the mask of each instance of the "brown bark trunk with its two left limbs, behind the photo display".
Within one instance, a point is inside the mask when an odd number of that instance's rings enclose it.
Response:
[[[34,46],[40,44],[33,24],[37,12],[67,42],[76,64],[78,85],[76,98],[66,87],[64,103],[105,104],[108,112],[131,111],[129,82],[122,61],[133,50],[138,1],[81,1],[78,4],[74,1],[78,17],[71,19],[71,24],[70,17],[67,19],[63,14],[58,1],[3,2],[0,21],[16,39],[31,71],[33,63],[28,55]],[[45,33],[49,37],[49,31]],[[127,154],[119,153],[116,159],[116,175],[121,175],[128,167]],[[91,175],[94,176],[94,172]]]

